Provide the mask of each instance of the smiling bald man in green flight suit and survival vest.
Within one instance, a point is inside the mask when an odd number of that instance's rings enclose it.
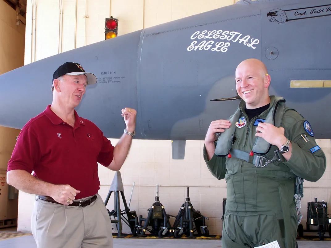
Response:
[[[210,124],[203,149],[211,173],[227,183],[222,248],[275,240],[295,248],[296,182],[320,179],[325,154],[308,121],[285,107],[285,99],[269,96],[271,78],[260,60],[241,62],[235,80],[239,107]]]

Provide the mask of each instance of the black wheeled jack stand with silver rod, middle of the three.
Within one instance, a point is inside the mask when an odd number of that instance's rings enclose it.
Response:
[[[144,236],[146,231],[149,231],[152,234],[159,235],[160,238],[165,237],[168,232],[171,234],[171,225],[169,222],[170,216],[166,214],[166,210],[159,198],[159,184],[156,185],[156,197],[155,202],[152,207],[147,210],[148,216],[147,218],[143,218],[142,215],[139,216],[139,224],[136,224],[137,227],[137,235]],[[176,216],[172,216],[176,217]],[[145,222],[142,227],[142,222]],[[163,226],[161,227],[161,225]],[[152,229],[149,229],[148,226],[151,226]],[[171,234],[172,236],[173,234]]]

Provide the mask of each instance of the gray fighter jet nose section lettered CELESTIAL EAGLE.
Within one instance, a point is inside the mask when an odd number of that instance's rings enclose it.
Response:
[[[0,75],[0,125],[21,129],[42,112],[56,68],[77,62],[97,83],[76,110],[106,137],[122,135],[121,109],[131,107],[135,139],[183,147],[234,112],[235,69],[256,58],[271,76],[269,94],[302,113],[316,138],[331,138],[330,8],[323,0],[239,1],[27,64]]]

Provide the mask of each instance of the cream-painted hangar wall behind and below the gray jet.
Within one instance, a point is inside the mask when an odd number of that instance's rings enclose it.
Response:
[[[118,32],[122,35],[233,3],[233,0],[66,0],[63,1],[62,52],[104,40],[104,20],[111,15],[120,20]],[[36,0],[36,6],[35,59],[40,60],[59,52],[60,11],[57,0]],[[27,1],[27,30],[32,26],[31,16],[31,2]],[[31,32],[26,32],[25,64],[31,62],[31,50],[34,51],[33,46],[31,49],[31,37]],[[113,139],[111,141],[114,145],[117,142]],[[318,144],[327,154],[328,165],[318,182],[304,183],[304,218],[307,218],[307,201],[317,197],[318,200],[331,202],[331,143],[330,140],[318,140]],[[203,141],[187,141],[185,159],[172,160],[171,141],[133,140],[130,154],[120,170],[127,202],[135,182],[130,209],[136,210],[138,216],[147,217],[147,208],[155,200],[156,184],[160,184],[161,203],[167,213],[177,215],[185,201],[186,186],[190,186],[193,207],[210,218],[207,225],[211,234],[221,234],[222,200],[226,198],[226,183],[211,175],[203,161],[202,147]],[[114,174],[99,166],[99,193],[103,199],[107,196]],[[19,231],[30,232],[33,200],[34,195],[20,191]],[[107,207],[109,210],[114,209],[113,197]],[[304,219],[302,223],[305,222]],[[123,232],[129,232],[125,225]]]

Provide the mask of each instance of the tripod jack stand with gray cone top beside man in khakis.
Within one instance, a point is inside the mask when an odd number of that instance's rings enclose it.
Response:
[[[132,186],[132,191],[133,191],[134,183]],[[112,192],[115,193],[114,195],[114,210],[109,211],[108,209],[108,214],[111,219],[112,223],[116,223],[117,230],[118,230],[118,238],[122,238],[122,221],[125,222],[126,225],[128,225],[131,229],[131,233],[135,236],[135,223],[137,219],[137,214],[136,211],[130,211],[130,202],[131,202],[131,197],[132,197],[132,191],[131,191],[131,196],[130,196],[130,201],[129,201],[129,206],[126,204],[125,196],[124,196],[124,187],[122,183],[122,178],[121,178],[121,173],[117,171],[115,173],[112,185],[110,186],[107,198],[105,200],[105,205],[107,206],[109,198],[112,194]],[[124,205],[124,210],[121,211],[120,209],[120,204],[119,204],[119,194],[122,196],[123,200],[123,205]],[[124,217],[124,214],[126,214],[127,218]],[[112,220],[112,216],[114,216],[114,220]],[[117,219],[116,219],[117,218]]]

